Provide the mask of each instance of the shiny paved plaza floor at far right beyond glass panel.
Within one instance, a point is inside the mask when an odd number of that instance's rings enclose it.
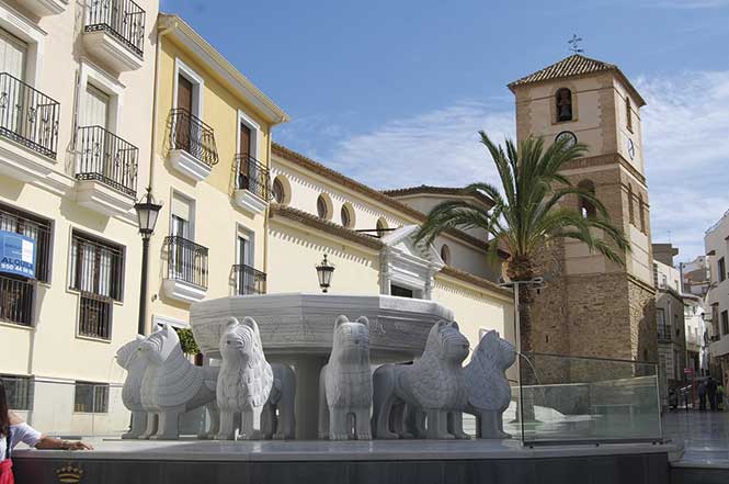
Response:
[[[664,438],[684,446],[681,464],[729,469],[729,412],[679,409],[662,423]]]

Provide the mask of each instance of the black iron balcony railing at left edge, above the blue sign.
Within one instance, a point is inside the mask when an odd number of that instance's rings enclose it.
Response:
[[[60,104],[8,72],[0,74],[0,136],[56,158]]]

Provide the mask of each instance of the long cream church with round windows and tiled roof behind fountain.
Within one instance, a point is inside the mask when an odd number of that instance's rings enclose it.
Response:
[[[335,267],[331,293],[433,300],[454,312],[472,346],[489,329],[513,338],[512,295],[494,282],[485,238],[449,230],[432,245],[413,243],[425,212],[469,196],[463,190],[384,193],[281,145],[272,153],[269,292],[319,292],[315,264],[326,254]]]

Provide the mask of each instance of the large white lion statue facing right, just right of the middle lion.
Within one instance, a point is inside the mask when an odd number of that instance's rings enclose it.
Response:
[[[378,439],[406,436],[405,409],[422,418],[417,428],[428,439],[466,437],[448,431],[451,417],[466,406],[467,391],[462,368],[468,339],[458,325],[440,320],[431,328],[421,358],[413,364],[384,364],[373,376],[375,397],[373,429]]]

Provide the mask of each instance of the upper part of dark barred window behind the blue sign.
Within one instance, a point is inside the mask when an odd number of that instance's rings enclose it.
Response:
[[[50,221],[0,204],[0,230],[14,232],[35,240],[35,278],[42,282],[50,282]]]

